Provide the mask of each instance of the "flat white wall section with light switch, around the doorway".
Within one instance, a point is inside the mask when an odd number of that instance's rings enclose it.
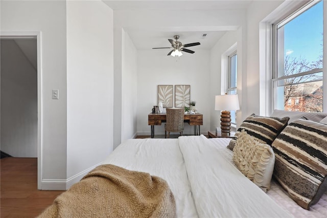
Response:
[[[2,32],[41,32],[41,189],[66,181],[66,2],[1,1]],[[51,98],[59,90],[59,99]],[[40,166],[39,166],[40,167]]]

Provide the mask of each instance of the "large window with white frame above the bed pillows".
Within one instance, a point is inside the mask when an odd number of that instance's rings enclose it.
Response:
[[[275,109],[322,112],[323,4],[312,1],[273,25]]]

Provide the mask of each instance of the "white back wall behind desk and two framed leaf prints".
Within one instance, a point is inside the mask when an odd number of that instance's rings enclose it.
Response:
[[[169,52],[169,51],[168,51]],[[210,52],[196,50],[184,53],[180,58],[167,56],[167,50],[139,50],[137,76],[137,135],[150,135],[148,114],[158,105],[158,85],[191,85],[191,101],[203,114],[202,134],[210,125]],[[174,92],[175,93],[175,92]],[[173,98],[173,101],[174,98]],[[174,104],[175,105],[175,104]],[[164,124],[155,126],[155,135],[165,134]],[[184,124],[183,134],[194,134],[194,126]]]

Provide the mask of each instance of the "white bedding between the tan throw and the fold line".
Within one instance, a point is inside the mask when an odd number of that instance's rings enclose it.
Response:
[[[198,217],[178,139],[130,139],[119,145],[103,164],[148,172],[167,181],[178,217]]]

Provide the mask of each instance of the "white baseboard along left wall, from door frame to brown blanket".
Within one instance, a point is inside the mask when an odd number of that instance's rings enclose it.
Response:
[[[80,173],[68,178],[67,180],[56,180],[56,179],[42,179],[40,190],[67,190],[75,183],[79,182],[89,171],[101,165],[102,163],[98,163],[92,167],[89,167],[83,170]]]

